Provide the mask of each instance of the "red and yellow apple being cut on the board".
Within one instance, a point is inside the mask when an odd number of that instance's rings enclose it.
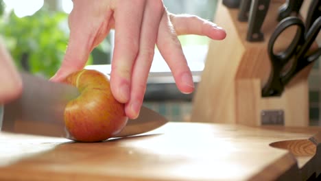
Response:
[[[72,140],[104,141],[125,127],[128,117],[124,104],[113,97],[106,75],[83,69],[68,75],[64,82],[80,92],[64,109],[64,123]]]

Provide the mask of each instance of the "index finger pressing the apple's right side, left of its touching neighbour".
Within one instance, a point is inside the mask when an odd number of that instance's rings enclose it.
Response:
[[[115,9],[115,49],[112,57],[110,88],[121,103],[130,98],[132,66],[139,51],[139,35],[145,1],[117,1]]]

